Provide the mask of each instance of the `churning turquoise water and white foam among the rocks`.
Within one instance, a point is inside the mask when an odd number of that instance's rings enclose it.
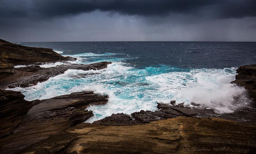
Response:
[[[131,114],[140,110],[156,110],[157,102],[176,100],[177,104],[191,101],[200,103],[217,113],[233,112],[250,100],[244,88],[230,84],[235,80],[236,68],[190,68],[173,67],[166,64],[144,65],[138,57],[124,53],[75,53],[65,56],[76,57],[70,63],[88,64],[111,61],[102,70],[68,70],[64,74],[50,78],[28,88],[14,88],[26,95],[26,100],[47,99],[72,92],[92,90],[96,94],[108,94],[106,105],[91,106],[94,116],[87,122],[102,119],[113,113]],[[67,52],[66,52],[67,53]],[[133,61],[133,63],[130,63]],[[57,62],[41,67],[54,67],[68,63]],[[21,67],[21,66],[20,66]],[[93,75],[83,74],[96,73]],[[234,96],[243,95],[239,102]]]

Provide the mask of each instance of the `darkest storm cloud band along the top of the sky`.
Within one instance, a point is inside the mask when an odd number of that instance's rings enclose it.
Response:
[[[0,0],[0,17],[50,18],[94,10],[126,15],[170,13],[241,18],[256,16],[256,0]]]

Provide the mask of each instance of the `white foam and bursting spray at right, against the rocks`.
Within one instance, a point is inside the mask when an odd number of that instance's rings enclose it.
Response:
[[[235,73],[230,73],[230,70],[235,72],[236,69],[192,69],[189,72],[150,76],[147,80],[159,87],[156,95],[169,93],[177,103],[190,104],[194,101],[218,113],[230,113],[251,101],[243,87],[230,83],[235,80]],[[235,100],[236,96],[245,97]],[[168,100],[163,98],[161,101]],[[238,104],[236,101],[239,101]]]

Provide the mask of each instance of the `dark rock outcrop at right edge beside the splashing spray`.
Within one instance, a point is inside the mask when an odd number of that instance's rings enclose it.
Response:
[[[256,108],[256,65],[240,66],[236,73],[236,80],[232,83],[244,86],[248,90],[254,101],[252,106]]]

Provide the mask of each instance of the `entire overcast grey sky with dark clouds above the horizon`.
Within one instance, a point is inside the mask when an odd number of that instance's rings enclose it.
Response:
[[[256,0],[0,0],[0,39],[256,41]]]

